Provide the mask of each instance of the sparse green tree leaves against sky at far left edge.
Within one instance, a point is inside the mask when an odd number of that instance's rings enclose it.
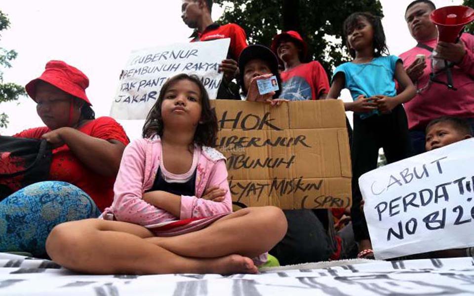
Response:
[[[8,29],[10,21],[6,14],[0,10],[0,32]],[[1,37],[1,35],[0,35]],[[10,62],[17,56],[16,51],[7,50],[0,47],[0,68],[11,68]],[[15,83],[4,83],[3,72],[0,70],[0,103],[16,101],[22,95],[24,95],[25,89],[23,86]],[[0,128],[6,127],[8,124],[8,115],[4,112],[0,113]]]

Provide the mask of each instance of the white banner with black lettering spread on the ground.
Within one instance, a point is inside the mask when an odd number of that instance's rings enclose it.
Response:
[[[0,253],[0,294],[466,296],[474,295],[472,260],[336,260],[264,267],[258,274],[231,276],[209,273],[88,275],[60,268],[50,260]]]

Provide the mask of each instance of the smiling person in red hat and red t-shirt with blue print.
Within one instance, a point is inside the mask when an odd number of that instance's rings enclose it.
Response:
[[[321,64],[316,61],[302,63],[308,46],[296,31],[283,32],[273,37],[272,50],[280,64],[282,91],[280,98],[290,101],[325,99],[329,80]]]

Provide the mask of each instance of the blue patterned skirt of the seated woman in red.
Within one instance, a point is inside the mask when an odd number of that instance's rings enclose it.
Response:
[[[44,244],[54,226],[99,215],[89,195],[72,184],[47,181],[29,185],[0,202],[0,252],[44,257]]]

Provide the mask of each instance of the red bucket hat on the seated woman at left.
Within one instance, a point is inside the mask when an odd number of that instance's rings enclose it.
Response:
[[[39,80],[45,81],[92,106],[85,94],[85,89],[89,86],[89,78],[77,68],[63,61],[49,61],[43,74],[28,82],[25,86],[26,92],[33,100],[36,96],[36,83]]]

